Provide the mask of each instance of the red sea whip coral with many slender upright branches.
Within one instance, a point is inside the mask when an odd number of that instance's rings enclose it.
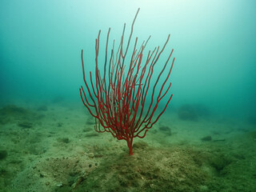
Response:
[[[134,22],[138,11],[134,17]],[[158,78],[152,78],[154,67],[166,48],[170,34],[162,49],[157,46],[147,53],[144,53],[144,50],[150,37],[146,42],[142,42],[139,48],[137,48],[138,38],[136,38],[133,52],[128,58],[127,52],[130,48],[134,22],[131,26],[130,37],[126,47],[123,46],[126,29],[126,24],[124,24],[118,51],[114,52],[113,42],[110,58],[108,59],[109,28],[106,37],[106,55],[102,74],[98,68],[99,38],[101,34],[101,30],[99,30],[98,38],[96,38],[95,42],[95,74],[93,75],[90,71],[90,82],[86,80],[83,50],[81,51],[82,73],[86,91],[82,86],[79,89],[83,104],[95,118],[95,130],[99,133],[109,132],[118,140],[126,140],[131,155],[133,154],[134,138],[144,138],[146,136],[146,132],[165,112],[172,98],[172,94],[168,94],[171,86],[171,82],[168,82],[168,79],[175,60],[173,58],[171,65],[167,65],[174,51],[171,50],[169,57],[162,66],[162,70],[160,73],[158,72]],[[143,56],[146,56],[146,58],[143,58]],[[142,64],[142,58],[144,65]],[[165,70],[167,70],[166,73],[164,73]],[[164,79],[161,82],[162,84],[158,85],[160,78]],[[89,87],[89,84],[91,87]],[[150,94],[149,90],[151,90]],[[158,111],[158,114],[155,114],[159,102],[163,98],[166,98],[163,101],[164,108]]]

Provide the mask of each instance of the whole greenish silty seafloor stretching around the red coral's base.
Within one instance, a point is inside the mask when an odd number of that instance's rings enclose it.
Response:
[[[256,191],[254,118],[185,105],[130,156],[125,141],[94,131],[82,104],[57,101],[0,107],[1,192]]]

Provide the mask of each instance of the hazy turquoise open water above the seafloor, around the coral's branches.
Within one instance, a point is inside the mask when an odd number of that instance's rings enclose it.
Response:
[[[200,102],[216,113],[254,114],[255,6],[254,1],[2,1],[2,101],[55,95],[79,100],[80,50],[93,66],[98,30],[103,48],[108,27],[110,38],[119,39],[126,22],[127,40],[140,7],[134,37],[142,42],[152,35],[153,49],[170,34],[174,105]]]

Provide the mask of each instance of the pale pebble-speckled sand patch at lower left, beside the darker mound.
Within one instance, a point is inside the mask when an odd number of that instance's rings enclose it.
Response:
[[[10,191],[71,191],[97,166],[97,159],[88,155],[42,158],[16,176]]]

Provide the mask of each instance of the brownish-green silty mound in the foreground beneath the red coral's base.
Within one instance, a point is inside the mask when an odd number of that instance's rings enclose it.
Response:
[[[72,191],[256,191],[255,152],[247,152],[225,144],[153,148],[137,142],[133,156],[103,155]]]

